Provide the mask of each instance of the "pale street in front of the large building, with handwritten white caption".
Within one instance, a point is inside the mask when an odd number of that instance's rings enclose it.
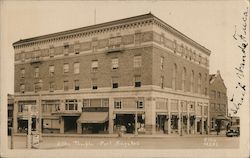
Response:
[[[237,148],[239,137],[168,136],[168,137],[62,137],[46,136],[40,149],[217,149]],[[9,137],[10,147],[10,137]],[[25,149],[26,137],[14,136],[14,149]]]

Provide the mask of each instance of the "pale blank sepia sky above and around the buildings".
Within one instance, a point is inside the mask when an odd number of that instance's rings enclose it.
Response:
[[[220,70],[229,99],[238,93],[235,67],[241,63],[242,55],[233,35],[242,30],[246,1],[0,1],[0,4],[1,95],[14,93],[12,43],[93,25],[95,21],[98,24],[149,12],[211,50],[210,74]],[[248,85],[248,64],[245,71],[242,81]],[[232,107],[229,101],[229,112]]]

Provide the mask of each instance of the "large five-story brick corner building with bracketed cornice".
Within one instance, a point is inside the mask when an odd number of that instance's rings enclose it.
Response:
[[[25,105],[43,132],[208,131],[210,51],[151,13],[13,47],[15,132]]]

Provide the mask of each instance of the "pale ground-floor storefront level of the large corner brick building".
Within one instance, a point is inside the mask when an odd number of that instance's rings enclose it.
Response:
[[[15,95],[14,133],[27,129],[24,106],[33,106],[32,129],[43,133],[208,134],[209,100],[184,92],[143,88]],[[41,117],[40,117],[41,116]]]

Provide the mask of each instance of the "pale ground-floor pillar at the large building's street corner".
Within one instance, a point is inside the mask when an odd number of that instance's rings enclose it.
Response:
[[[145,129],[147,134],[155,133],[155,99],[145,98]]]

